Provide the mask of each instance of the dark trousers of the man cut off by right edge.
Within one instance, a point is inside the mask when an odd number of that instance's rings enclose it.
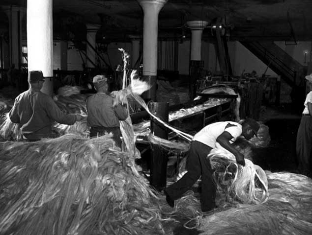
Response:
[[[302,116],[297,133],[296,153],[298,170],[302,174],[311,171],[312,117]]]

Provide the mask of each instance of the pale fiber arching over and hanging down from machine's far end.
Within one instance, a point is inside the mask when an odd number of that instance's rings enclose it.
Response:
[[[218,84],[218,85],[213,85],[205,90],[203,90],[201,93],[203,94],[234,94],[237,95],[236,98],[236,105],[234,109],[234,115],[235,115],[235,121],[239,121],[239,106],[241,102],[241,97],[240,94],[235,92],[233,88],[225,85],[225,84]],[[195,99],[198,99],[196,97]]]

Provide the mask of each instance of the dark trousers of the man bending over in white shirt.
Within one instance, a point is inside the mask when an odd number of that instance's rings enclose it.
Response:
[[[179,199],[187,190],[192,188],[201,176],[201,210],[210,211],[215,208],[216,186],[212,180],[213,171],[209,160],[207,160],[207,154],[211,149],[211,147],[199,141],[192,141],[186,163],[187,173],[176,183],[165,189],[171,199]]]

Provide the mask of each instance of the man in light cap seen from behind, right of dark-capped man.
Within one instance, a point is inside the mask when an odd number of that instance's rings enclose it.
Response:
[[[92,82],[97,93],[89,96],[86,101],[87,123],[91,127],[90,137],[112,133],[113,140],[121,148],[119,120],[128,117],[127,106],[117,104],[113,107],[113,97],[108,94],[109,84],[106,76],[96,75]]]

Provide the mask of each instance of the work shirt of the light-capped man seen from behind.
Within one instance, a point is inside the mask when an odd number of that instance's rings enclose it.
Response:
[[[128,117],[126,106],[113,107],[113,97],[105,93],[96,93],[86,100],[87,123],[90,127],[119,127],[119,120]]]

